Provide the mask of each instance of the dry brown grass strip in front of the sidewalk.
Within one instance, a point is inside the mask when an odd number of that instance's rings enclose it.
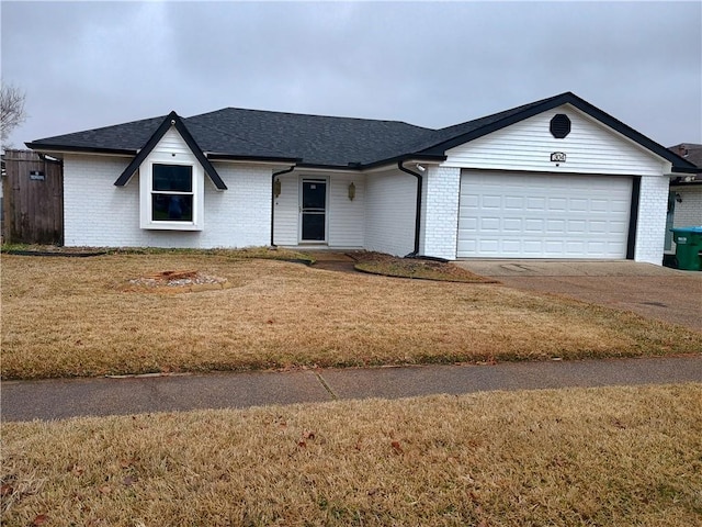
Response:
[[[3,525],[702,525],[702,384],[3,424]]]

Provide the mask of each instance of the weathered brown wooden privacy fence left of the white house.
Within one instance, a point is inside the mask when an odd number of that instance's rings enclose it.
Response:
[[[3,243],[63,245],[63,164],[32,150],[5,150],[3,160]]]

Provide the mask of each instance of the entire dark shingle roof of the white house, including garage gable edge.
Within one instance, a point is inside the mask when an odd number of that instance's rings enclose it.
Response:
[[[182,119],[197,147],[211,159],[294,161],[303,166],[369,167],[401,159],[443,159],[445,150],[569,103],[629,138],[670,160],[681,171],[694,166],[592,106],[574,93],[561,93],[441,130],[399,121],[333,117],[226,108]],[[45,150],[135,154],[163,123],[166,115],[59,135],[27,143]]]

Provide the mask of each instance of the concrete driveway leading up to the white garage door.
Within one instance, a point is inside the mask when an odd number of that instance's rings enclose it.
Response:
[[[510,288],[633,311],[702,333],[702,272],[699,271],[631,260],[463,260],[456,264]]]

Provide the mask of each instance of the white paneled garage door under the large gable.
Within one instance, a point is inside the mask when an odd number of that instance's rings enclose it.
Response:
[[[626,257],[632,179],[464,172],[458,258]]]

